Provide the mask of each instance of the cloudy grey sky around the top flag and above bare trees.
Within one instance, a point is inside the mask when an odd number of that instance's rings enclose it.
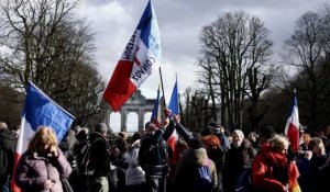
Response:
[[[108,83],[148,0],[82,0],[79,14],[96,33],[98,70]],[[260,18],[271,31],[274,52],[293,34],[295,22],[329,0],[153,0],[162,39],[162,71],[167,102],[178,76],[178,89],[196,88],[198,35],[204,25],[229,11],[243,10]],[[156,97],[160,74],[154,71],[140,87],[148,99]],[[168,99],[167,99],[168,98]]]

